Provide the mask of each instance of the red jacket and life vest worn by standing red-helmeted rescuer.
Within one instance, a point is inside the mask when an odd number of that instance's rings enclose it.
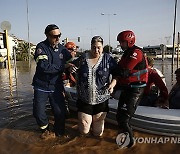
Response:
[[[141,48],[133,46],[126,50],[119,61],[119,67],[130,70],[129,77],[119,77],[120,86],[147,83],[148,64]]]

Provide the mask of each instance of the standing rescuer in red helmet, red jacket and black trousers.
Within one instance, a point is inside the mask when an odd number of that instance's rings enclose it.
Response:
[[[118,63],[119,68],[117,70],[116,86],[121,89],[121,95],[116,115],[119,126],[116,142],[120,148],[129,148],[134,145],[130,119],[136,111],[147,83],[147,62],[141,48],[134,45],[135,35],[132,31],[120,32],[117,41],[119,41],[124,54]],[[124,136],[128,139],[126,143],[122,142]]]

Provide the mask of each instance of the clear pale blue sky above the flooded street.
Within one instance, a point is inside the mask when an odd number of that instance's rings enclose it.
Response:
[[[111,45],[116,47],[117,34],[131,29],[139,46],[157,45],[173,36],[175,0],[28,0],[30,41],[34,44],[45,39],[44,28],[57,24],[62,39],[68,37],[81,48],[90,48],[94,35],[108,44],[108,15],[110,15]],[[27,40],[26,0],[1,0],[0,23],[9,21],[9,33]],[[0,30],[2,31],[2,30]],[[177,5],[176,32],[180,32],[180,0]],[[81,42],[77,42],[77,37]]]

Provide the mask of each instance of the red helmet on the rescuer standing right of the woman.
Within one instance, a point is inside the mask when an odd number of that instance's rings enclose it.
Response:
[[[128,47],[131,48],[135,43],[135,35],[131,30],[122,31],[118,34],[117,41],[127,41]]]

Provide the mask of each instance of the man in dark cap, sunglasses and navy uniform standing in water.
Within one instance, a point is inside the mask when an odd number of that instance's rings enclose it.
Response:
[[[61,136],[65,131],[65,102],[62,73],[65,64],[71,59],[69,51],[59,43],[61,36],[57,25],[45,28],[46,40],[37,44],[34,59],[37,63],[33,78],[34,100],[33,115],[42,131],[42,138],[50,135],[46,114],[46,102],[49,100],[54,114],[54,132]]]

